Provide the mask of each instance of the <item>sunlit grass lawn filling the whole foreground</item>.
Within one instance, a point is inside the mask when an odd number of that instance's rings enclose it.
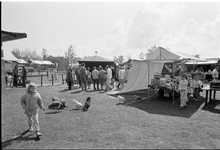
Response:
[[[146,91],[123,94],[124,105],[116,96],[103,92],[67,90],[66,85],[38,87],[47,107],[53,96],[64,98],[68,108],[53,113],[40,111],[43,136],[36,140],[28,129],[27,117],[20,106],[24,88],[9,88],[2,99],[2,148],[4,149],[219,149],[220,93],[204,106],[204,98],[190,100],[178,110],[179,99],[152,97],[135,101],[134,94],[147,96]],[[92,97],[87,112],[76,110],[72,99],[84,103]],[[201,93],[204,96],[204,92]],[[22,134],[22,136],[20,135]],[[20,135],[15,138],[16,135]]]

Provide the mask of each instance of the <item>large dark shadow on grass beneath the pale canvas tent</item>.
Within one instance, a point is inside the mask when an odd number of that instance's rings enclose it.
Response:
[[[160,99],[157,97],[157,95],[153,94],[153,92],[149,92],[150,98],[147,99],[148,97],[147,90],[129,92],[120,95],[125,98],[125,102],[123,104],[124,106],[135,107],[150,114],[177,116],[184,118],[190,118],[204,103],[203,97],[200,97],[200,100],[198,102],[189,99],[189,104],[187,104],[187,107],[183,110],[178,110],[180,106],[179,97],[175,97],[173,104],[172,98]],[[141,98],[146,98],[146,99],[137,101],[134,98],[134,95],[138,95]],[[118,95],[111,95],[111,96],[117,97]],[[116,104],[116,105],[120,105],[120,104]]]

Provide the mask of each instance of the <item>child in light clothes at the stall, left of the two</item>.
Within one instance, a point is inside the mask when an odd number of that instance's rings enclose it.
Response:
[[[179,91],[180,91],[180,107],[179,107],[179,110],[186,107],[186,102],[188,101],[187,86],[188,86],[188,81],[186,80],[186,75],[182,74],[181,75],[181,80],[180,80],[180,83],[179,83],[179,88],[178,88]]]

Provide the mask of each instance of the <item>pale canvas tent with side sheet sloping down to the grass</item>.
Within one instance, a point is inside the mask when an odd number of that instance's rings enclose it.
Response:
[[[177,60],[194,60],[194,61],[203,61],[199,60],[196,57],[187,55],[187,54],[174,54],[162,47],[158,49],[151,55],[151,58],[148,60],[133,60],[132,69],[129,74],[128,83],[121,91],[110,91],[107,94],[121,94],[131,91],[147,89],[148,85],[153,79],[153,76],[156,72],[161,73],[164,69],[165,63],[173,63]]]

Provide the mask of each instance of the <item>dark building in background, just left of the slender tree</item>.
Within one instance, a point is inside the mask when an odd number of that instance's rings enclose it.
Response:
[[[66,68],[68,67],[68,61],[64,57],[60,57],[60,56],[53,57],[53,56],[50,56],[50,57],[48,57],[48,60],[51,61],[52,63],[54,63],[57,66],[57,71],[58,72],[66,71]]]

